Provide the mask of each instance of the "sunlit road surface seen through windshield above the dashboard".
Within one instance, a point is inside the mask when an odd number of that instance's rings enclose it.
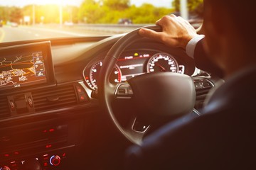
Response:
[[[201,23],[194,24],[198,28]],[[75,24],[63,26],[58,24],[46,24],[37,26],[4,26],[0,28],[0,42],[11,42],[18,40],[35,40],[47,38],[66,38],[78,36],[100,36],[127,33],[136,28],[146,25],[118,25],[118,24]]]

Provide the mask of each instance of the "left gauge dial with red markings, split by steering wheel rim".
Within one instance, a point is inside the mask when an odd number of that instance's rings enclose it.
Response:
[[[90,78],[88,79],[87,77],[85,77],[87,84],[93,90],[97,89],[97,81],[99,79],[102,63],[103,63],[102,60],[100,60],[100,61],[96,62],[95,64],[93,64],[92,67],[90,68],[90,74],[89,74]],[[122,76],[121,71],[116,64],[114,66],[112,73],[110,74],[110,83],[117,84],[117,83],[121,82],[121,76]]]

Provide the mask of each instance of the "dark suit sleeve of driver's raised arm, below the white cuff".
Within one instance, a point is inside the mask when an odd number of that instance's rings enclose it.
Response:
[[[195,48],[194,60],[198,69],[223,77],[223,71],[215,63],[213,63],[203,48],[204,38],[200,40]]]

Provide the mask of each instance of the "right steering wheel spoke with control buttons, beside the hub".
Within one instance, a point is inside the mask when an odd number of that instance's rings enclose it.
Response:
[[[208,79],[193,79],[196,87],[196,104],[195,108],[200,109],[203,107],[203,103],[206,100],[206,97],[213,88],[213,83]]]

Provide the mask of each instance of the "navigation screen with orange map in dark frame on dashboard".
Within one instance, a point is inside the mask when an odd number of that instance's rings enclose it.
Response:
[[[0,90],[54,82],[50,42],[2,47],[0,54]]]

